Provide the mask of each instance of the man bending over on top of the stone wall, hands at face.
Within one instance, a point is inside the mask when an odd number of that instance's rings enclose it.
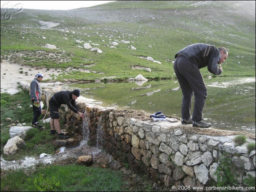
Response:
[[[203,116],[203,107],[207,97],[207,88],[200,73],[200,68],[207,67],[210,73],[220,75],[221,64],[227,59],[228,52],[224,47],[208,44],[192,44],[181,49],[175,55],[174,71],[182,90],[182,124],[192,124],[193,127],[208,128]],[[218,66],[219,65],[219,66]],[[194,94],[194,109],[192,118],[191,100]]]

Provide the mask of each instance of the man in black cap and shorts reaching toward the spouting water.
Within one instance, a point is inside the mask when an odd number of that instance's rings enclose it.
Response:
[[[59,134],[59,139],[68,139],[67,135],[64,135],[60,129],[59,123],[59,108],[62,104],[66,104],[74,113],[77,113],[79,116],[84,118],[84,114],[78,111],[76,105],[76,99],[80,96],[80,90],[68,91],[63,90],[55,93],[52,98],[49,100],[50,107],[50,125],[51,131],[50,134],[55,134],[56,131]]]

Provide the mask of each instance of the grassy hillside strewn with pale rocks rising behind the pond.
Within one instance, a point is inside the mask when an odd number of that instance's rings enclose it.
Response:
[[[53,74],[58,81],[124,80],[138,74],[171,79],[175,53],[199,42],[229,50],[224,76],[255,76],[255,1],[116,1],[67,11],[23,9],[10,20],[5,13],[1,9],[1,59],[57,68],[63,72]],[[56,26],[44,29],[44,22]],[[114,41],[116,49],[110,48]],[[84,43],[103,53],[84,49]],[[161,64],[147,61],[148,56]],[[206,68],[201,72],[209,75]]]

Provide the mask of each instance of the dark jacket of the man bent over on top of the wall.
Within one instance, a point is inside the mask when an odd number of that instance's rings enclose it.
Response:
[[[194,63],[199,69],[206,67],[210,73],[220,75],[218,61],[221,60],[221,53],[217,47],[208,44],[192,44],[181,49],[176,55],[183,55],[189,61]]]

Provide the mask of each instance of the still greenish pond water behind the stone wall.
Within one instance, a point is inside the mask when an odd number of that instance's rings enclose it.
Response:
[[[255,77],[206,78],[208,89],[203,118],[216,129],[255,133]],[[87,98],[103,107],[130,108],[149,113],[162,111],[180,117],[182,93],[177,81],[75,84]],[[193,106],[193,103],[192,103]],[[192,108],[193,109],[193,108]]]

